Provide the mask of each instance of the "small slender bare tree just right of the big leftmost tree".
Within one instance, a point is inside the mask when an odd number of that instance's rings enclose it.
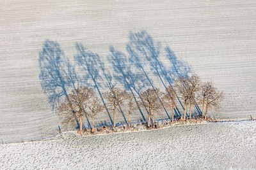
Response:
[[[104,106],[100,103],[98,97],[91,98],[86,104],[86,114],[88,117],[92,118],[92,132],[94,132],[94,120],[95,115],[98,115],[101,111],[104,110]]]

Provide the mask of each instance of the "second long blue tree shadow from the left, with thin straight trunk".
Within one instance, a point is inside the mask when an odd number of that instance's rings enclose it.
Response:
[[[74,58],[77,64],[79,64],[79,66],[81,66],[81,68],[83,69],[83,81],[86,82],[87,85],[97,90],[100,99],[104,104],[104,108],[108,113],[109,120],[111,121],[111,124],[113,124],[113,120],[109,113],[108,107],[106,106],[106,101],[104,100],[102,92],[100,91],[100,81],[102,81],[103,79],[102,76],[100,76],[99,69],[104,70],[100,57],[96,53],[86,50],[86,48],[84,48],[81,43],[76,43],[76,49],[77,55]],[[109,83],[110,77],[106,73],[104,73],[104,76],[108,80],[108,86],[111,86],[111,84]]]

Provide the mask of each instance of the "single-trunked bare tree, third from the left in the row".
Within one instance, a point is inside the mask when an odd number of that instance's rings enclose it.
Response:
[[[125,90],[121,90],[117,87],[112,87],[109,92],[105,92],[103,97],[108,101],[107,106],[108,110],[113,113],[113,127],[116,127],[116,111],[120,105],[122,105],[125,101]]]

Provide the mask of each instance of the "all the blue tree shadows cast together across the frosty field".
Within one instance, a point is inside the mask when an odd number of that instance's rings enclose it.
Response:
[[[108,60],[102,60],[100,55],[86,49],[81,43],[76,43],[75,46],[77,53],[74,55],[74,65],[65,57],[60,45],[55,41],[46,40],[39,53],[39,78],[42,89],[49,97],[52,110],[56,111],[61,100],[68,99],[68,92],[72,89],[77,89],[79,85],[86,85],[97,91],[113,124],[102,93],[119,83],[124,85],[125,90],[131,92],[139,108],[141,122],[145,122],[145,114],[148,111],[140,108],[141,92],[148,87],[156,89],[156,83],[164,89],[168,86],[172,87],[176,78],[188,76],[191,73],[188,64],[179,60],[170,46],[162,48],[161,42],[155,41],[147,31],[130,32],[126,52],[109,46]],[[162,101],[161,103],[164,106]],[[183,108],[180,101],[179,104]],[[163,108],[166,117],[170,119],[168,110]],[[121,107],[119,109],[127,124],[125,113]],[[200,114],[200,109],[198,107],[196,109]],[[177,106],[175,117],[180,115]],[[89,120],[88,125],[90,125]]]

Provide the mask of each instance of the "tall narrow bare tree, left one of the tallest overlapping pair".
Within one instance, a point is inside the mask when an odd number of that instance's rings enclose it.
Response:
[[[180,76],[175,80],[175,89],[177,90],[177,95],[182,99],[184,104],[184,120],[186,120],[187,105],[189,103],[189,90],[188,90],[189,78],[188,76]]]

